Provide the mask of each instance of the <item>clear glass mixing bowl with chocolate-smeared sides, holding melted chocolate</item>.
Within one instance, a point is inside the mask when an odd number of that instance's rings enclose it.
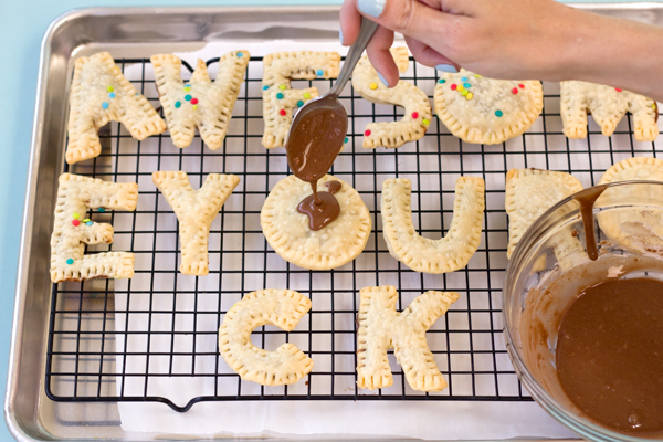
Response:
[[[594,262],[585,251],[585,229],[573,197],[545,212],[512,255],[503,291],[508,355],[533,398],[581,436],[594,441],[662,439],[662,434],[644,436],[613,431],[579,410],[559,385],[555,350],[561,315],[577,297],[573,287],[581,287],[591,275],[612,272],[619,277],[646,275],[663,280],[663,182],[622,181],[607,186],[593,207],[600,255]],[[633,262],[636,264],[631,265]],[[571,290],[547,292],[556,281],[562,281],[560,277]],[[543,328],[530,327],[533,322]]]

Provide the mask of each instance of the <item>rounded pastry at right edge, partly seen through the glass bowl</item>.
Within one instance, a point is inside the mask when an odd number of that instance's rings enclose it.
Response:
[[[663,160],[652,157],[627,158],[608,169],[599,185],[630,180],[663,181]],[[639,202],[652,204],[663,201],[663,190],[660,186],[640,187],[638,190],[631,186],[610,188],[597,199],[596,206],[610,204],[611,199],[617,199],[621,203],[632,201],[634,204]],[[651,230],[649,234],[653,233],[663,238],[662,218],[660,210],[633,210],[630,208],[597,213],[599,225],[609,238],[623,236],[627,233],[623,231],[624,228],[628,229],[625,223],[644,224]],[[627,235],[629,234],[627,233]]]

